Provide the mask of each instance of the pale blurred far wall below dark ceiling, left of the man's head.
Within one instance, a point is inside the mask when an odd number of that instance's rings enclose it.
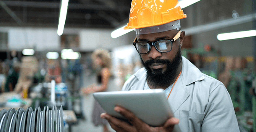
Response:
[[[111,38],[109,29],[71,29],[65,28],[63,34],[79,35],[79,50],[92,51],[97,48],[112,49],[113,47],[123,46],[132,43],[128,41],[127,35],[116,39]],[[60,36],[57,35],[57,28],[16,28],[0,27],[0,32],[8,33],[7,50],[23,50],[34,48],[42,50],[61,50]],[[128,35],[129,36],[129,35]],[[4,50],[4,49],[2,49]]]

